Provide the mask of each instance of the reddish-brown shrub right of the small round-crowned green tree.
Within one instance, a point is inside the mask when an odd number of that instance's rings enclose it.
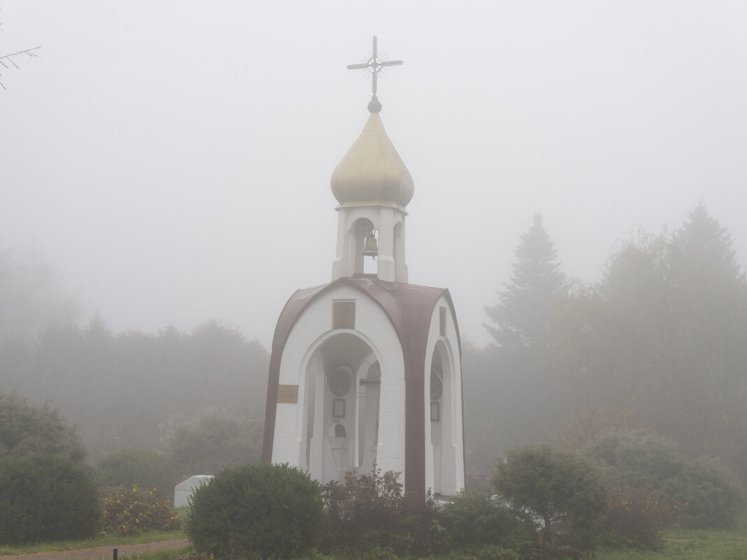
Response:
[[[658,550],[663,546],[660,531],[677,518],[682,507],[651,486],[623,486],[610,491],[605,526],[617,546]]]

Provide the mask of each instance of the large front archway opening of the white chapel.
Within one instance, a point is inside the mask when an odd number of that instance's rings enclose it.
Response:
[[[378,410],[372,412],[378,403],[376,367],[371,346],[349,332],[329,337],[309,358],[300,448],[312,478],[322,484],[344,481],[345,473],[361,464],[361,446],[378,438]],[[370,453],[365,458],[372,460]]]

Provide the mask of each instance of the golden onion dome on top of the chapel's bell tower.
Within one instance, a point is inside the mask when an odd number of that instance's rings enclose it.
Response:
[[[379,118],[381,103],[374,97],[358,139],[332,172],[332,194],[341,205],[382,204],[404,208],[415,184]]]

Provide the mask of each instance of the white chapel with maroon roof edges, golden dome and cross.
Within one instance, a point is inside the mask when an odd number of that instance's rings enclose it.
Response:
[[[464,487],[462,361],[444,288],[408,283],[406,206],[415,185],[389,140],[376,96],[332,172],[338,202],[332,281],[297,290],[270,356],[262,459],[325,484],[348,472],[401,473],[406,493]]]

